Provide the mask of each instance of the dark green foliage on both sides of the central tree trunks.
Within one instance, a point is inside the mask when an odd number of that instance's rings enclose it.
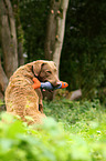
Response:
[[[28,62],[44,59],[49,0],[23,0],[19,14]],[[62,9],[60,9],[62,16]],[[106,87],[106,1],[70,1],[62,50],[60,76],[67,81],[68,90],[82,89],[83,98],[99,98]],[[23,39],[24,36],[24,39]]]

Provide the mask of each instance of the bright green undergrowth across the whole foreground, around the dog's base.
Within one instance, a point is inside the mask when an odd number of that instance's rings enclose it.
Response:
[[[106,161],[106,113],[98,100],[44,101],[44,123],[30,127],[1,113],[0,161]]]

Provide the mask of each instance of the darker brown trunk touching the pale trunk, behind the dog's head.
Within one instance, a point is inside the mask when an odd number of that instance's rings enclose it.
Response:
[[[57,10],[60,9],[60,1],[51,0],[50,14],[46,23],[46,38],[45,38],[45,59],[53,60],[53,52],[55,47],[56,37],[56,18]]]

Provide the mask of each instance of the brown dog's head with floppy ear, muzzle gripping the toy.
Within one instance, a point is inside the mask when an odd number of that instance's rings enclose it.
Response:
[[[54,87],[60,84],[57,78],[56,64],[53,61],[34,61],[33,72],[39,78],[41,82],[51,82]]]

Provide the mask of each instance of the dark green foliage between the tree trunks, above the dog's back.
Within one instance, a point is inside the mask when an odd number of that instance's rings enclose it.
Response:
[[[20,18],[24,31],[28,62],[44,59],[49,3],[49,0],[20,1]]]

